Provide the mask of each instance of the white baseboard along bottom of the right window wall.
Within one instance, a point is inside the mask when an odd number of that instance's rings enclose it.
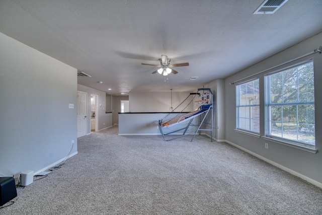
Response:
[[[276,166],[276,167],[278,167],[278,168],[280,168],[280,169],[282,169],[282,170],[284,170],[286,172],[289,172],[292,175],[300,177],[301,179],[304,179],[305,181],[307,181],[307,182],[309,182],[311,184],[314,184],[315,186],[318,186],[318,187],[322,188],[322,183],[320,183],[320,182],[317,182],[317,181],[315,181],[315,180],[313,180],[313,179],[311,179],[311,178],[309,178],[309,177],[307,177],[305,175],[302,175],[302,174],[300,174],[298,172],[295,172],[295,171],[293,171],[291,169],[288,169],[288,168],[286,168],[286,167],[284,167],[284,166],[282,166],[282,165],[280,165],[278,163],[275,163],[275,162],[273,162],[273,161],[271,161],[271,160],[269,160],[267,158],[264,158],[264,157],[262,157],[262,156],[260,156],[260,155],[258,155],[256,153],[253,153],[252,151],[249,151],[249,150],[247,150],[247,149],[245,149],[243,147],[240,147],[240,146],[238,146],[238,145],[236,145],[236,144],[234,144],[234,143],[232,143],[232,142],[230,142],[228,140],[225,140],[225,142],[227,142],[227,144],[230,144],[230,145],[232,145],[232,146],[234,146],[234,147],[236,147],[236,148],[238,148],[240,150],[243,150],[244,152],[247,152],[247,153],[249,153],[249,154],[251,154],[251,155],[253,155],[253,156],[255,156],[255,157],[257,157],[257,158],[259,158],[261,160],[263,160],[263,161],[266,161],[267,163],[272,164],[272,165],[274,165],[274,166]]]

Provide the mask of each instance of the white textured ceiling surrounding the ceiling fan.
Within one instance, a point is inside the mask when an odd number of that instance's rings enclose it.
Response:
[[[91,75],[78,84],[97,90],[196,91],[322,31],[320,0],[290,0],[274,14],[254,15],[262,3],[1,0],[0,32]],[[165,82],[141,65],[158,64],[162,54],[190,65]]]

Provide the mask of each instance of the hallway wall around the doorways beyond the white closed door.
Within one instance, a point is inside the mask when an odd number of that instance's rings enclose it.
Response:
[[[98,130],[112,126],[112,114],[106,113],[106,93],[83,85],[77,85],[77,91],[87,93],[87,133],[91,133],[91,94],[98,96]]]

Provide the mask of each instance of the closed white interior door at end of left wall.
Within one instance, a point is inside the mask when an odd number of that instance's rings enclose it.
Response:
[[[86,135],[87,131],[87,93],[77,91],[77,138]]]

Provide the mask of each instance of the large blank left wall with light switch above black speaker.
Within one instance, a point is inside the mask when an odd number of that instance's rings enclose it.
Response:
[[[0,175],[77,153],[77,70],[0,33]]]

